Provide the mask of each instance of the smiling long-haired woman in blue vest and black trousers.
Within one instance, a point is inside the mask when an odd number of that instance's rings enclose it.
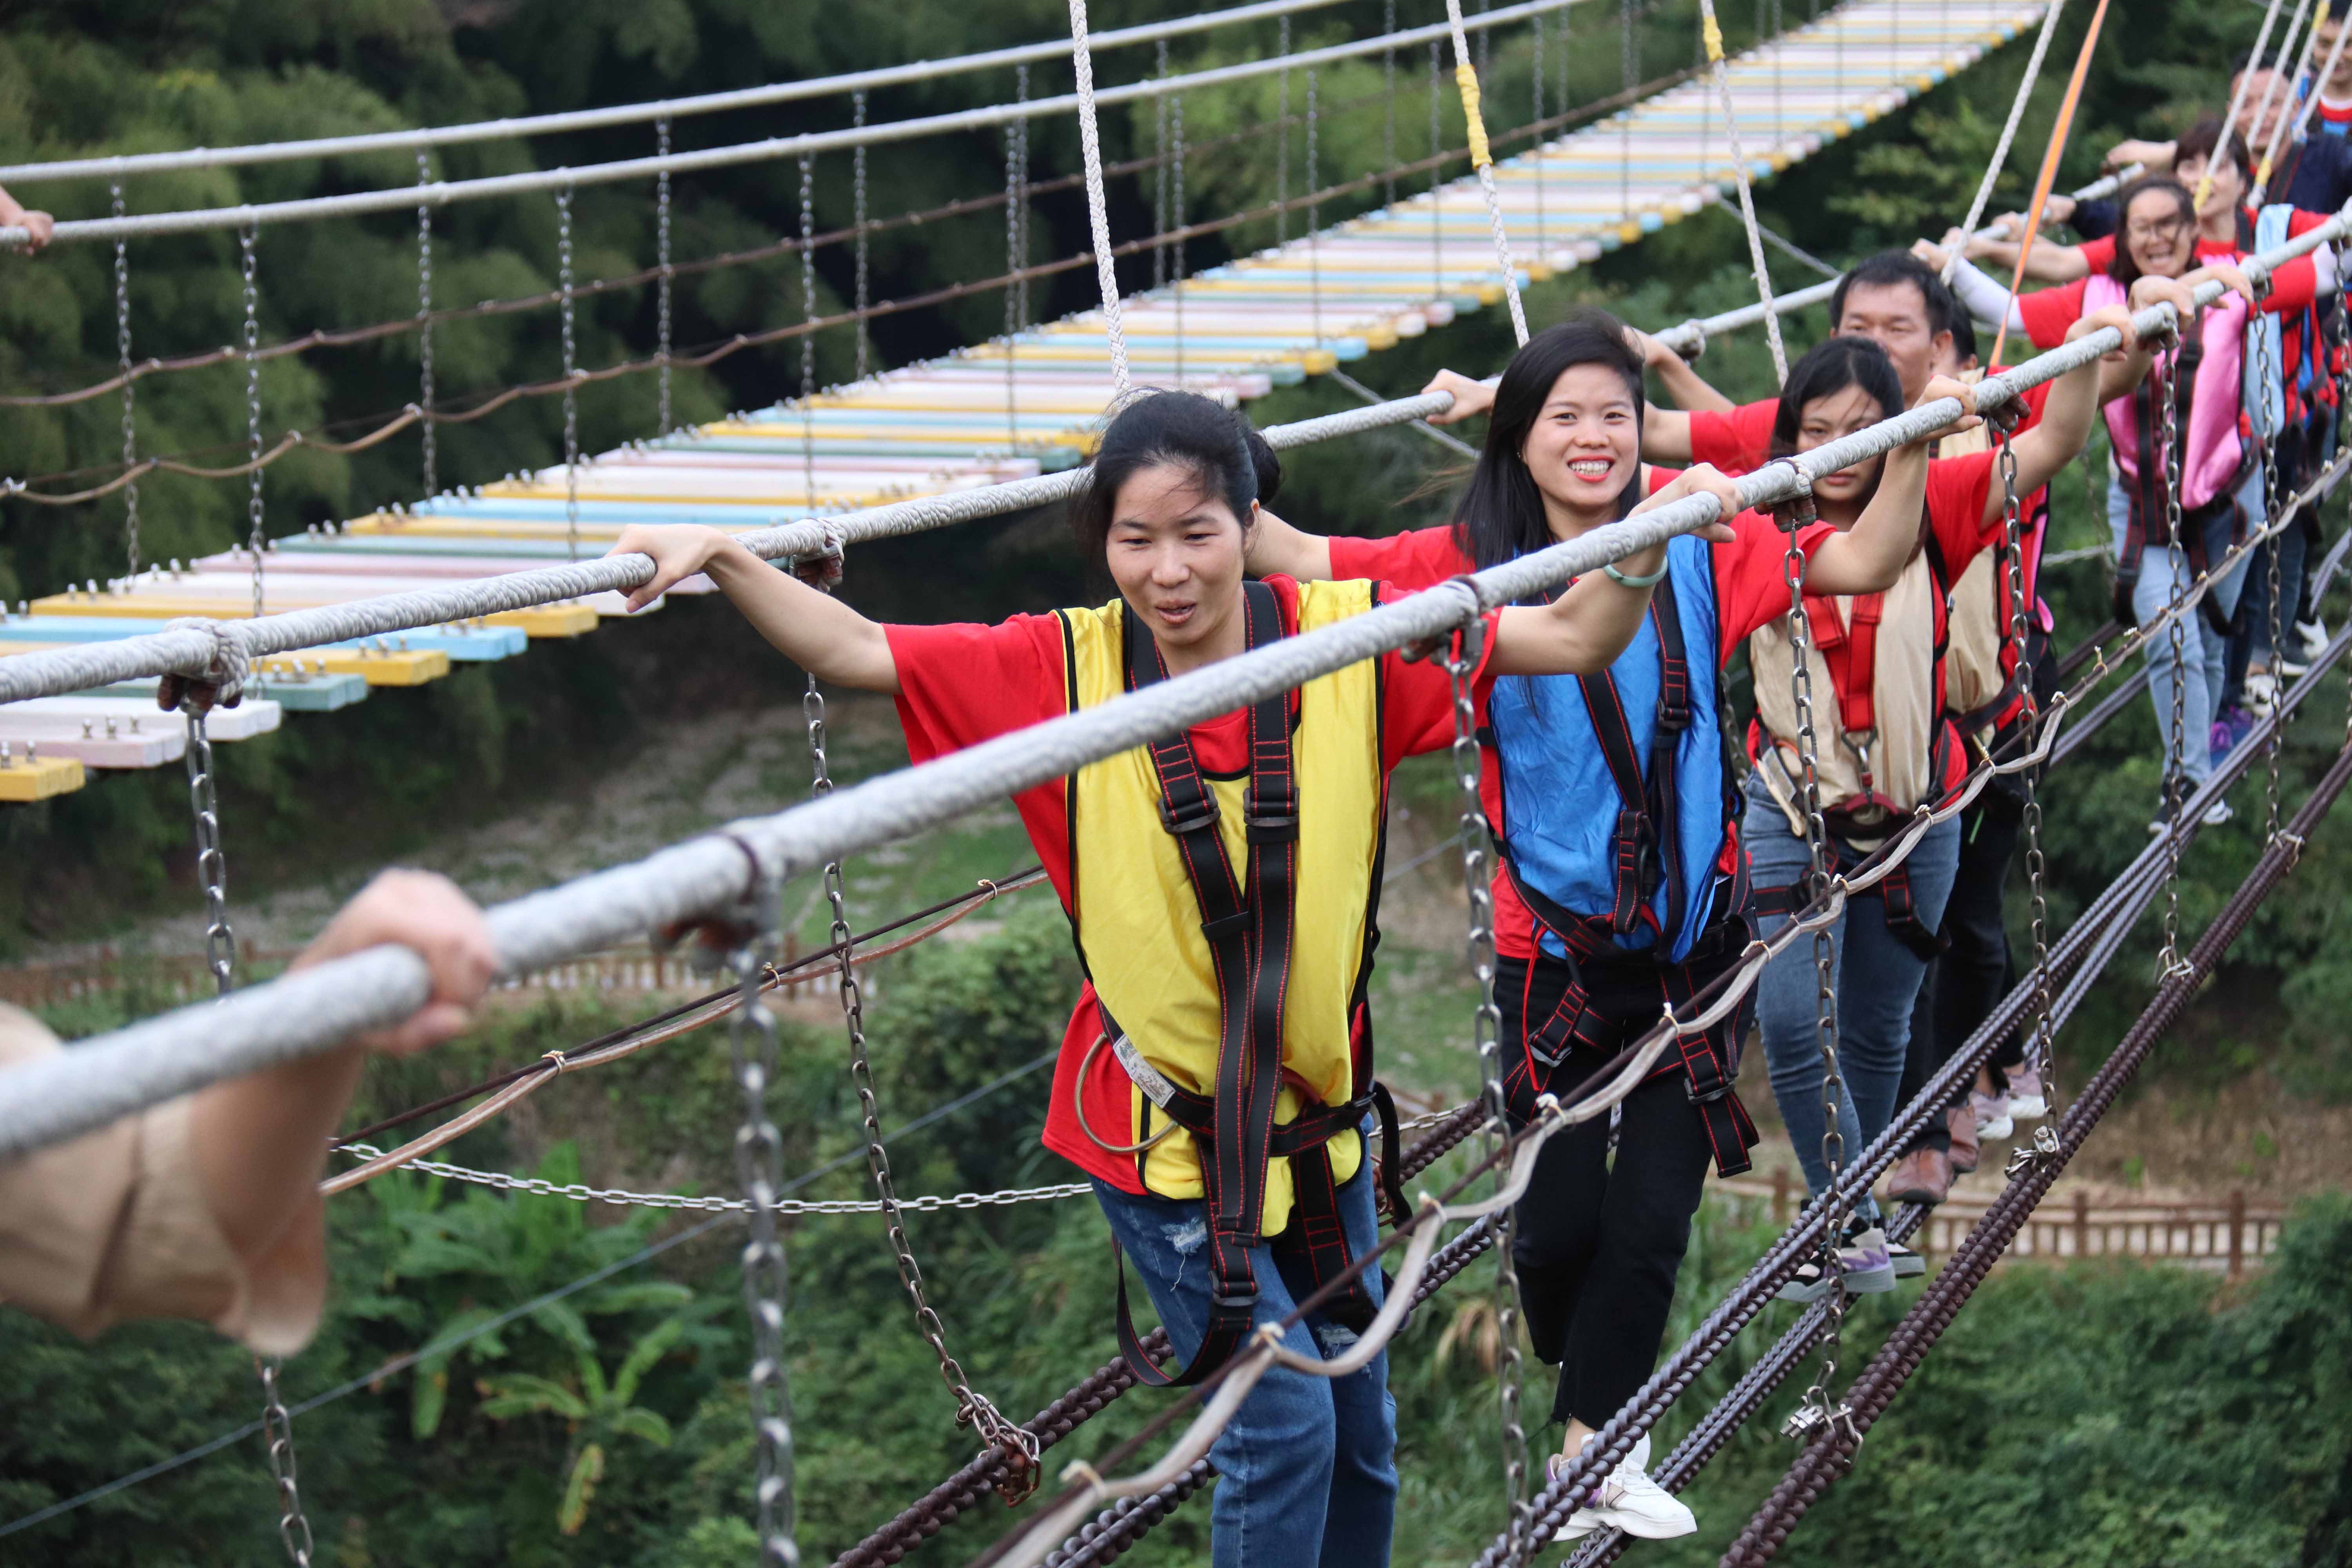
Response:
[[[1966,388],[1933,381],[1922,397]],[[1656,484],[1642,468],[1642,355],[1604,310],[1578,310],[1522,348],[1494,395],[1454,524],[1390,538],[1322,538],[1265,517],[1251,569],[1367,576],[1404,588],[1494,567],[1625,517]],[[1886,458],[1851,534],[1797,536],[1806,583],[1870,592],[1903,569],[1919,524],[1926,449]],[[1738,961],[1745,875],[1722,729],[1722,661],[1788,616],[1790,538],[1762,512],[1719,541],[1675,538],[1651,614],[1606,672],[1498,679],[1486,705],[1484,802],[1496,877],[1496,1001],[1510,1112],[1569,1093]],[[1649,581],[1649,578],[1639,578]],[[1738,1020],[1670,1048],[1609,1119],[1555,1135],[1519,1204],[1515,1262],[1536,1354],[1559,1363],[1552,1469],[1649,1378],[1712,1164],[1748,1168],[1755,1126],[1731,1091]],[[1691,1509],[1649,1479],[1649,1439],[1562,1530],[1670,1537]]]

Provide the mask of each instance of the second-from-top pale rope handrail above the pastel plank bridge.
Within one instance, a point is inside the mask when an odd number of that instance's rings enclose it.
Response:
[[[1482,12],[1470,16],[1465,26],[1501,28],[1515,21],[1526,21],[1531,16],[1545,16],[1550,12],[1566,9],[1571,5],[1585,5],[1588,0],[1519,0],[1519,5],[1498,7],[1494,12]],[[1303,49],[1298,54],[1279,59],[1256,59],[1240,61],[1232,66],[1216,66],[1209,71],[1195,71],[1190,75],[1160,75],[1143,82],[1127,82],[1122,87],[1103,87],[1094,94],[1096,106],[1115,103],[1143,103],[1167,94],[1200,92],[1204,87],[1223,87],[1228,82],[1247,82],[1261,75],[1275,75],[1287,68],[1322,66],[1343,59],[1357,59],[1364,54],[1383,54],[1388,49],[1442,40],[1449,35],[1446,24],[1430,24],[1421,28],[1402,28],[1397,33],[1381,33],[1376,38],[1357,38],[1338,45],[1324,45],[1319,49]],[[141,240],[155,235],[186,235],[207,233],[219,228],[247,228],[247,226],[275,226],[275,223],[315,223],[320,219],[350,219],[374,212],[414,212],[419,207],[449,207],[452,202],[480,202],[508,195],[532,195],[548,190],[574,190],[581,186],[612,186],[621,181],[656,179],[659,174],[699,174],[703,169],[734,169],[753,162],[776,162],[788,158],[814,158],[818,153],[844,153],[858,146],[882,146],[894,141],[920,141],[924,136],[953,136],[967,132],[995,129],[1000,125],[1014,125],[1018,120],[1044,120],[1054,115],[1077,113],[1080,99],[1075,92],[1058,94],[1051,99],[1028,99],[1021,103],[993,103],[985,108],[964,108],[943,115],[917,115],[910,120],[884,120],[877,125],[837,129],[837,132],[804,132],[797,136],[767,136],[762,141],[739,141],[717,148],[701,148],[694,153],[668,153],[654,158],[623,158],[616,162],[581,165],[576,169],[529,169],[524,174],[492,174],[482,179],[461,181],[433,181],[433,183],[407,183],[386,190],[348,190],[341,195],[308,195],[287,202],[247,202],[240,207],[193,207],[186,212],[153,212],[122,219],[68,219],[59,223],[49,242],[85,242],[85,240]],[[21,247],[26,242],[24,228],[0,228],[0,247]]]

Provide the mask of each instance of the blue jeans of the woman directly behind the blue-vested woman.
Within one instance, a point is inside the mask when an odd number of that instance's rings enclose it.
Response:
[[[1748,849],[1750,882],[1759,889],[1802,882],[1813,863],[1804,839],[1788,830],[1788,816],[1762,778],[1750,773],[1745,790],[1740,844]],[[1905,865],[1919,922],[1936,931],[1959,870],[1959,818],[1929,827]],[[1771,938],[1790,922],[1788,914],[1750,919],[1759,938]],[[1837,1067],[1846,1079],[1846,1093],[1837,1100],[1837,1131],[1844,1138],[1839,1166],[1851,1168],[1896,1117],[1912,1004],[1926,980],[1926,959],[1886,926],[1886,900],[1863,893],[1849,898],[1846,912],[1830,926],[1830,976],[1837,985]],[[1757,1027],[1780,1121],[1804,1166],[1804,1185],[1820,1194],[1830,1185],[1830,1164],[1820,1154],[1820,1084],[1828,1072],[1820,1063],[1816,1004],[1813,943],[1797,938],[1757,980]],[[1870,1199],[1858,1211],[1877,1213]]]

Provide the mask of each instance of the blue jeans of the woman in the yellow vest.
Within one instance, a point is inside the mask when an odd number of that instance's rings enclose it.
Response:
[[[1127,1248],[1160,1321],[1185,1361],[1209,1328],[1209,1215],[1200,1201],[1136,1197],[1096,1180],[1094,1197]],[[1348,1248],[1381,1241],[1371,1154],[1338,1190]],[[1279,1324],[1315,1293],[1305,1262],[1275,1262],[1263,1241],[1249,1253],[1258,1276],[1258,1326]],[[1364,1284],[1381,1300],[1381,1269]],[[1301,1356],[1348,1349],[1355,1333],[1310,1312],[1282,1342]],[[1397,1401],[1388,1354],[1345,1378],[1277,1366],[1258,1378],[1209,1448],[1216,1465],[1209,1559],[1216,1568],[1381,1568],[1397,1519]]]

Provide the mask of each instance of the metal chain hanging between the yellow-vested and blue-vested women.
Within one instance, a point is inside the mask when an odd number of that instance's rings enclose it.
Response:
[[[1454,682],[1454,745],[1446,752],[1454,766],[1454,788],[1461,792],[1461,846],[1463,846],[1463,893],[1470,898],[1470,973],[1477,980],[1477,1009],[1470,1013],[1470,1034],[1477,1046],[1479,1100],[1486,1107],[1489,1154],[1501,1150],[1503,1117],[1503,1009],[1494,1001],[1494,832],[1486,823],[1486,804],[1479,797],[1484,759],[1477,743],[1477,701],[1470,677],[1479,668],[1479,651],[1486,639],[1486,621],[1470,621],[1456,630],[1437,656],[1439,668]],[[1508,1171],[1496,1171],[1496,1185],[1508,1182]],[[1494,1269],[1494,1326],[1496,1326],[1496,1385],[1501,1394],[1501,1448],[1503,1448],[1503,1500],[1510,1509],[1510,1537],[1519,1542],[1534,1526],[1534,1507],[1526,1495],[1526,1425],[1519,1418],[1519,1269],[1510,1246],[1517,1232],[1517,1215],[1505,1208],[1498,1215],[1496,1269]]]

